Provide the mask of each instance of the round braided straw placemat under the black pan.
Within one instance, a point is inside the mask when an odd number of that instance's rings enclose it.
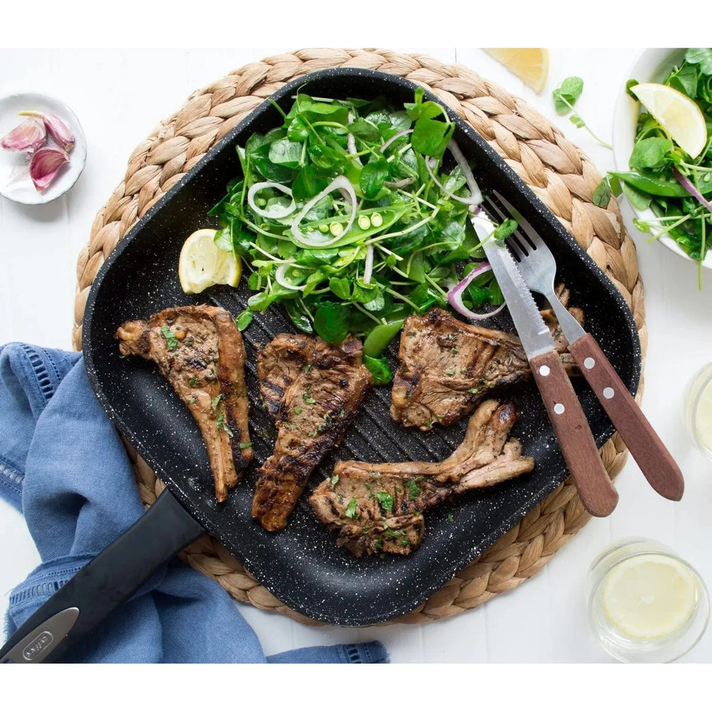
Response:
[[[84,307],[96,273],[137,219],[283,83],[328,67],[397,74],[429,88],[470,122],[611,278],[632,310],[645,352],[643,286],[635,247],[615,199],[606,208],[593,204],[592,194],[601,176],[590,159],[545,117],[468,68],[419,54],[343,49],[300,50],[237,69],[193,93],[136,148],[124,178],[98,212],[89,243],[78,259],[75,347],[80,348]],[[616,476],[627,458],[620,437],[615,434],[600,452],[609,475]],[[150,505],[164,485],[135,451],[129,448],[129,453],[142,500]],[[575,487],[566,481],[444,588],[393,622],[422,623],[451,616],[517,587],[538,572],[589,518]],[[259,585],[216,540],[201,538],[182,557],[237,600],[313,623]]]

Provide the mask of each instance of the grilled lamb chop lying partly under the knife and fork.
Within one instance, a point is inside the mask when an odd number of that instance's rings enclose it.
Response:
[[[567,299],[567,292],[561,291]],[[565,302],[564,302],[565,303]],[[583,323],[580,309],[569,310]],[[567,370],[575,363],[552,310],[541,313]],[[393,379],[391,417],[429,430],[470,414],[488,390],[531,375],[520,340],[503,331],[465,324],[442,309],[410,316],[403,327]]]

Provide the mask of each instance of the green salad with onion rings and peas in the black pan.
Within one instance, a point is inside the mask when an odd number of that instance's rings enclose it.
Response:
[[[446,307],[468,274],[455,308],[502,305],[468,220],[481,195],[439,104],[417,90],[401,106],[302,93],[287,113],[275,106],[282,125],[238,147],[241,174],[209,213],[216,245],[249,271],[239,328],[279,303],[304,333],[362,337],[384,383],[382,353],[407,316]]]

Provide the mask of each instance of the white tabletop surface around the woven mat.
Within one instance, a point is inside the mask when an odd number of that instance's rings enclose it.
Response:
[[[229,70],[283,51],[252,50],[57,50],[0,51],[0,95],[37,90],[56,95],[76,112],[88,140],[88,163],[78,184],[46,206],[26,208],[0,198],[0,343],[26,341],[70,348],[75,261],[95,213],[125,172],[130,152],[162,117],[177,110],[195,88]],[[413,51],[408,48],[405,51]],[[420,51],[420,50],[419,50]],[[540,95],[526,88],[478,49],[422,51],[462,63],[501,83],[550,117],[587,151],[603,171],[612,154],[557,117],[550,93],[568,75],[585,89],[577,109],[596,132],[610,136],[614,102],[637,50],[553,50],[550,77]],[[166,68],[160,82],[142,78],[147,67]],[[267,654],[295,646],[380,639],[394,662],[605,662],[611,661],[587,628],[587,567],[612,540],[656,538],[686,557],[712,584],[712,464],[696,454],[681,424],[681,394],[693,373],[712,360],[712,273],[700,292],[695,267],[664,247],[646,244],[627,226],[639,249],[646,286],[649,334],[643,409],[686,477],[683,501],[671,503],[647,485],[633,461],[617,479],[620,502],[613,515],[592,520],[542,572],[513,592],[464,614],[424,626],[371,629],[313,628],[238,604]],[[1,607],[14,585],[39,558],[21,515],[0,501]],[[712,661],[708,632],[684,661]]]

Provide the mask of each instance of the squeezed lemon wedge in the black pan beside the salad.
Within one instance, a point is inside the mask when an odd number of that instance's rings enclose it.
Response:
[[[195,231],[184,242],[178,261],[178,278],[186,294],[198,294],[216,284],[236,287],[242,263],[234,253],[215,244],[216,230]]]

